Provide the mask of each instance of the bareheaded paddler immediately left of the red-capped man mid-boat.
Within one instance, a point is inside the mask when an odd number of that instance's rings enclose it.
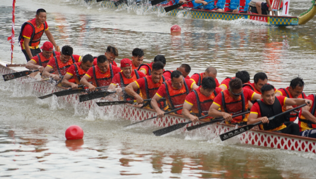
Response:
[[[109,64],[104,54],[97,57],[97,65],[90,68],[81,78],[80,84],[85,85],[90,91],[94,91],[96,87],[105,87],[111,84],[113,77],[121,72],[121,69]],[[92,84],[89,83],[92,81]]]

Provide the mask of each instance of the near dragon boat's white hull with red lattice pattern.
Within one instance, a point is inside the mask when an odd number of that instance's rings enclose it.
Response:
[[[19,67],[18,65],[16,65],[16,67],[14,67],[15,65],[11,65],[11,67],[7,67],[8,64],[10,63],[0,61],[0,74],[8,74],[8,73],[27,70],[25,69],[25,67]],[[14,79],[14,80],[16,80],[18,83],[26,83],[30,81],[31,82],[37,81],[39,79],[40,79],[39,75],[36,75],[35,77],[31,77],[28,75],[28,76]],[[4,82],[4,83],[8,83],[8,82]],[[64,87],[55,86],[52,83],[49,83],[47,81],[38,81],[34,83],[28,83],[25,85],[29,85],[28,88],[34,90],[35,92],[39,92],[41,94],[49,94],[56,91],[66,90],[66,88]],[[56,97],[56,98],[61,98],[61,100],[64,100],[65,102],[70,103],[70,104],[80,105],[80,107],[87,107],[87,108],[98,107],[95,103],[96,100],[85,101],[85,102],[79,103],[79,94],[71,94],[68,96],[61,96],[61,97]],[[130,120],[131,122],[145,120],[156,115],[156,112],[153,109],[139,108],[137,106],[130,105],[130,104],[123,105],[120,107],[107,106],[107,107],[101,107],[101,108],[105,112],[114,111],[115,116],[124,118],[126,120]],[[166,126],[176,125],[178,123],[184,123],[188,121],[189,119],[184,118],[184,116],[182,115],[168,114],[168,115],[165,115],[165,117],[163,118],[159,118],[159,119],[156,118],[152,120],[151,122],[147,122],[147,123],[153,123],[157,127],[166,127]],[[201,136],[200,134],[202,134],[202,136],[204,135],[204,138],[206,140],[209,140],[210,136],[211,136],[211,139],[214,139],[214,138],[217,138],[219,134],[228,132],[229,130],[236,129],[237,127],[235,125],[216,123],[216,124],[212,124],[212,125],[208,125],[208,126],[196,129],[194,131],[186,131],[186,127],[201,124],[201,123],[202,122],[187,124],[185,127],[178,129],[177,132],[179,132],[181,135],[182,134],[190,135],[192,134],[192,132],[195,132],[199,136]],[[294,136],[294,135],[288,135],[288,134],[281,134],[281,133],[276,133],[276,132],[263,131],[259,129],[248,130],[229,140],[234,141],[234,142],[237,141],[237,143],[250,144],[250,145],[262,146],[262,147],[316,153],[316,139],[314,138],[306,138],[306,137],[300,137],[300,136]]]

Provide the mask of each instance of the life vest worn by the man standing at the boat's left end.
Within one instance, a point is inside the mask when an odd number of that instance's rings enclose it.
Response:
[[[35,18],[33,18],[32,20],[34,20]],[[29,43],[29,46],[31,47],[36,47],[39,45],[40,43],[40,40],[41,40],[41,37],[43,36],[44,34],[44,31],[46,29],[46,25],[45,23],[44,24],[41,24],[41,26],[39,28],[36,27],[36,22],[35,22],[35,25],[31,22],[32,20],[28,20],[27,22],[24,22],[23,25],[21,26],[21,32],[20,32],[20,35],[18,36],[18,42],[21,41],[21,39],[24,40],[24,37],[22,36],[22,32],[24,30],[24,27],[25,25],[29,24],[32,26],[33,28],[33,33],[32,33],[32,36],[30,38],[30,43]]]

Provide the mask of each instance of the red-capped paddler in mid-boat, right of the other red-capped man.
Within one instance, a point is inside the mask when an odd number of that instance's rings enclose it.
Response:
[[[142,72],[137,71],[136,69],[132,69],[132,61],[128,58],[124,58],[121,60],[121,70],[122,72],[114,75],[111,85],[108,87],[108,90],[116,90],[117,93],[120,93],[122,89],[136,81],[139,78],[145,77],[146,75]],[[136,90],[138,94],[140,94],[140,90]],[[125,91],[123,91],[123,100],[131,100],[133,97],[129,96]]]

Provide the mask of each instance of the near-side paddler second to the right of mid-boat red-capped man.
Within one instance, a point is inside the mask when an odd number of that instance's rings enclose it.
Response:
[[[185,79],[180,71],[173,71],[171,73],[171,80],[163,82],[159,87],[157,93],[151,100],[151,106],[156,110],[157,116],[163,117],[164,111],[158,106],[158,101],[164,97],[167,100],[168,106],[171,110],[182,107],[185,97],[191,90],[197,89],[198,86],[193,80]],[[182,110],[176,113],[181,114]]]

